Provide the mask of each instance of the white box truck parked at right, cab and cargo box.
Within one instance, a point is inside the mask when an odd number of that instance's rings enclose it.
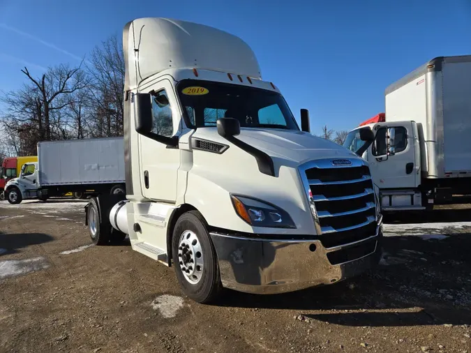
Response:
[[[387,87],[385,112],[352,130],[383,211],[425,210],[471,195],[471,55],[438,57]],[[362,142],[361,129],[375,134]]]

